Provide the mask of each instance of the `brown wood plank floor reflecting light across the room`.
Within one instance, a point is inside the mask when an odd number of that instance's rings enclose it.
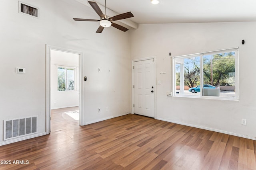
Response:
[[[250,139],[132,114],[80,127],[65,111],[50,135],[0,147],[0,169],[256,170]]]

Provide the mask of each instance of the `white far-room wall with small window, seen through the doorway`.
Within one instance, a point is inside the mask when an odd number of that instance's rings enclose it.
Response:
[[[79,106],[79,55],[51,50],[51,109]],[[58,91],[58,67],[75,68],[75,90]]]

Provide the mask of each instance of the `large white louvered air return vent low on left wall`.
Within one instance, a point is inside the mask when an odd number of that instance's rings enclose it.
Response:
[[[4,141],[38,132],[38,116],[4,120]]]

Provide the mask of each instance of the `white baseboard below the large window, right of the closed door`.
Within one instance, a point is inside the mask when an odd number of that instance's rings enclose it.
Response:
[[[162,119],[162,118],[159,118],[159,117],[157,117],[156,119],[162,120],[162,121],[167,121],[167,122],[170,122],[170,123],[176,123],[176,124],[179,124],[179,125],[185,125],[185,126],[190,126],[190,127],[196,127],[196,128],[204,129],[204,130],[208,130],[208,131],[214,131],[214,132],[224,133],[224,134],[227,134],[227,135],[233,135],[233,136],[242,137],[242,138],[246,138],[246,139],[252,139],[252,140],[256,141],[256,137],[251,137],[251,136],[248,136],[248,135],[241,135],[241,134],[238,134],[238,133],[232,133],[232,132],[228,132],[228,131],[222,131],[222,130],[219,130],[219,129],[212,129],[212,128],[208,128],[208,127],[197,126],[197,125],[192,125],[192,124],[183,123],[183,122],[178,122],[178,121],[171,121],[171,120]]]

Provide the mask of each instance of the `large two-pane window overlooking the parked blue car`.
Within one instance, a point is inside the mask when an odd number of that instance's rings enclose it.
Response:
[[[238,48],[173,57],[174,96],[238,100]]]

